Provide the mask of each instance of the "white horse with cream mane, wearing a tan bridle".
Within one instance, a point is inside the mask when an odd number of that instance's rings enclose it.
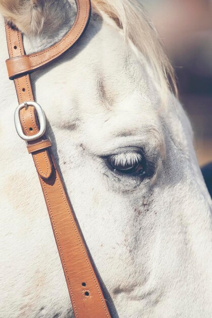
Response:
[[[27,53],[57,42],[68,0],[1,0]],[[212,204],[171,67],[136,0],[92,0],[78,44],[32,74],[36,100],[114,318],[212,316]],[[73,317],[31,156],[13,124],[0,19],[0,317]],[[98,318],[98,317],[94,317]]]

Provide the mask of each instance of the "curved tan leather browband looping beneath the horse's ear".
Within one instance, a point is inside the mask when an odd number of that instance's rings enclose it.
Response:
[[[62,40],[46,50],[29,55],[14,56],[7,59],[6,64],[10,79],[29,74],[46,65],[72,47],[80,39],[88,25],[91,6],[90,0],[75,1],[77,4],[77,16],[70,31]],[[14,46],[18,48],[19,43],[16,42]]]

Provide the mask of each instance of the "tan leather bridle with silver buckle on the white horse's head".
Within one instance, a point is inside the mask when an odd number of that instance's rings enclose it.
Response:
[[[89,0],[76,0],[76,4],[77,16],[72,29],[61,41],[39,53],[25,55],[21,33],[6,23],[10,56],[6,63],[19,102],[15,112],[16,129],[27,142],[38,172],[75,317],[109,318],[100,283],[50,150],[51,141],[45,136],[45,115],[34,101],[29,76],[58,58],[82,36],[89,22],[91,4]]]

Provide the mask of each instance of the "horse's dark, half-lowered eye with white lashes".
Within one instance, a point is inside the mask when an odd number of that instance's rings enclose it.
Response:
[[[108,158],[108,162],[114,171],[123,174],[144,175],[146,172],[145,160],[139,153],[133,153],[132,157],[129,154],[112,155]]]

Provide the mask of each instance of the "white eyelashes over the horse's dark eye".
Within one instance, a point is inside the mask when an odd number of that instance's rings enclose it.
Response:
[[[142,161],[142,155],[133,151],[123,152],[112,155],[111,161],[113,161],[116,166],[134,165]]]

